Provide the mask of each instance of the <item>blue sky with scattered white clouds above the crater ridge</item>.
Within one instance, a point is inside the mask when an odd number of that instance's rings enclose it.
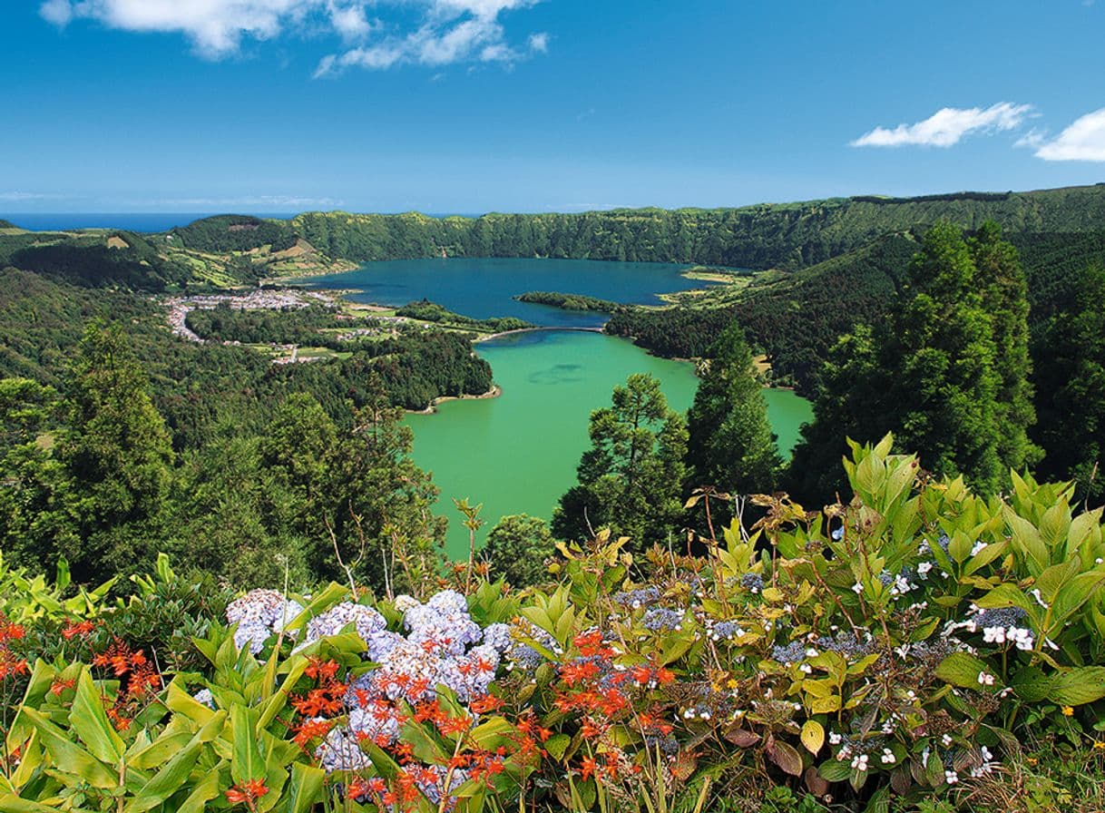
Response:
[[[0,214],[1105,181],[1105,0],[9,0]]]

